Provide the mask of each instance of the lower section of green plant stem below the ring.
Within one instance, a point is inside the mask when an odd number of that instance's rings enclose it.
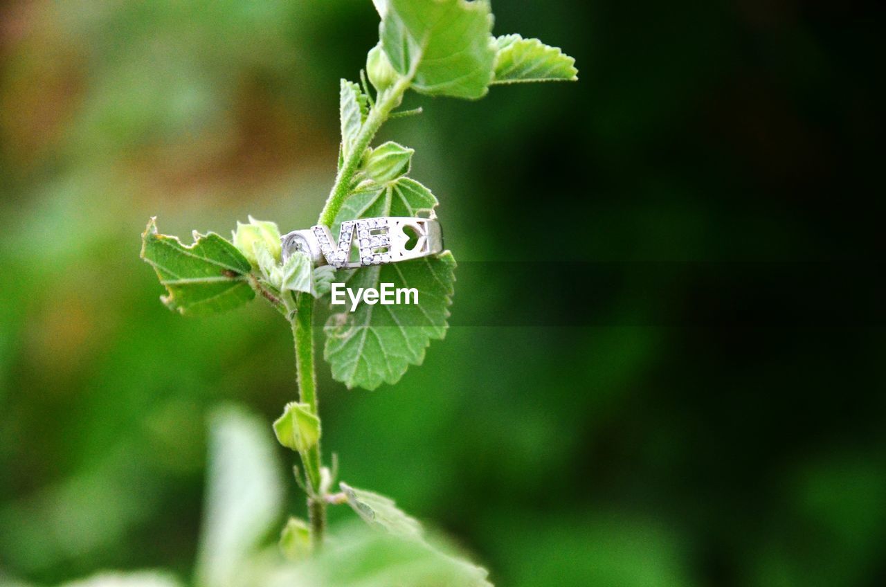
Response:
[[[296,312],[292,318],[292,337],[295,340],[296,377],[299,383],[299,402],[319,418],[317,411],[317,379],[314,363],[314,298],[310,294],[299,294]],[[311,521],[311,542],[315,550],[323,545],[323,532],[326,529],[326,501],[323,499],[320,469],[323,463],[320,441],[306,452],[301,453],[302,466],[307,476],[307,512]]]

